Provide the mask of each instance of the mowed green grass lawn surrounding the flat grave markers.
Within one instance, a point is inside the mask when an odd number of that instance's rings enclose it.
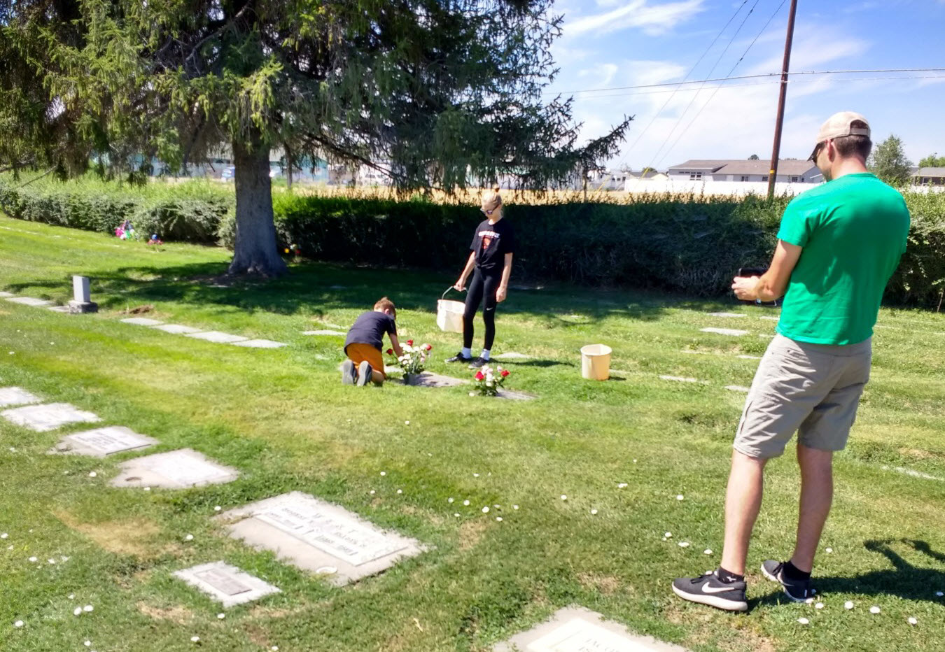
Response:
[[[456,271],[463,257],[456,252]],[[744,402],[725,386],[750,384],[757,360],[738,355],[764,352],[775,322],[760,317],[776,313],[586,287],[512,290],[494,353],[530,356],[508,362],[507,386],[537,400],[470,397],[465,387],[361,389],[339,383],[341,337],[301,331],[347,327],[388,295],[402,334],[434,346],[431,370],[471,373],[443,362],[459,336],[435,323],[455,272],[300,264],[284,280],[231,285],[217,280],[228,258],[0,217],[0,289],[64,302],[71,275],[84,274],[101,306],[70,317],[0,300],[0,386],[158,438],[153,452],[191,447],[241,472],[202,489],[112,489],[118,464],[141,454],[47,455],[64,432],[88,426],[36,434],[0,421],[3,650],[191,650],[193,636],[215,651],[488,650],[567,605],[696,651],[945,646],[945,599],[936,596],[945,591],[942,315],[880,315],[872,381],[837,455],[817,558],[824,609],[785,602],[758,570],[793,542],[799,478],[788,454],[768,466],[751,610],[729,614],[683,603],[669,585],[717,563]],[[118,320],[143,305],[153,306],[146,317],[289,346],[242,349]],[[750,334],[699,331],[707,326]],[[598,342],[613,348],[613,378],[585,381],[578,349]],[[291,490],[430,550],[336,588],[228,538],[212,519],[215,506]],[[218,619],[223,609],[172,575],[217,559],[282,592]],[[94,611],[74,616],[84,605]]]

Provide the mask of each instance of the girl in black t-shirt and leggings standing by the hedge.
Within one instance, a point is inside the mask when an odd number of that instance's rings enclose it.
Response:
[[[506,300],[508,277],[512,272],[512,252],[515,250],[515,232],[512,225],[502,218],[502,197],[498,188],[483,197],[479,210],[486,219],[472,234],[469,260],[454,285],[459,291],[469,290],[463,313],[463,350],[447,360],[471,363],[471,369],[482,367],[489,361],[490,349],[495,340],[495,308]],[[473,272],[472,282],[466,288],[470,272]],[[484,299],[482,319],[486,324],[486,339],[482,353],[472,359],[472,318]]]

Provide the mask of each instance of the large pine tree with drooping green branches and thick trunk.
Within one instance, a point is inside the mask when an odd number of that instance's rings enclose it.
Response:
[[[10,3],[11,0],[0,0]],[[232,148],[230,271],[278,275],[268,155],[376,165],[401,189],[545,188],[615,153],[545,102],[551,0],[16,0],[0,10],[9,165],[172,168]],[[9,60],[7,57],[9,56]],[[28,83],[25,81],[28,80]]]

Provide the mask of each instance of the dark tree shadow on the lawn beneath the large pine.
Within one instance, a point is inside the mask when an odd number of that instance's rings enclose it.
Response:
[[[454,274],[426,270],[308,262],[294,265],[289,274],[272,280],[233,279],[225,277],[226,271],[226,263],[105,269],[92,276],[93,300],[106,310],[168,300],[319,317],[338,309],[366,310],[387,296],[398,308],[435,313],[437,300],[455,282]],[[43,287],[50,296],[68,297],[71,285],[71,277],[66,276],[59,281],[21,283],[10,289],[17,292]],[[452,296],[462,298],[455,293]],[[512,291],[502,305],[504,312],[554,320],[578,312],[581,323],[590,324],[614,316],[657,320],[677,302],[678,298],[653,292],[560,285]]]

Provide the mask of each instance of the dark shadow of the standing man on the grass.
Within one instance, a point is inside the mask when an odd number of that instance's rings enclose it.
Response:
[[[938,562],[942,565],[942,570],[923,568],[906,561],[892,549],[891,544],[896,543],[909,546],[917,553]],[[893,568],[851,577],[816,577],[818,594],[898,595],[904,600],[941,601],[935,592],[942,591],[941,587],[945,587],[945,554],[932,550],[925,541],[915,539],[868,540],[863,545],[870,552],[880,553],[889,559]],[[782,592],[773,592],[759,598],[756,604],[777,604],[782,596]]]

